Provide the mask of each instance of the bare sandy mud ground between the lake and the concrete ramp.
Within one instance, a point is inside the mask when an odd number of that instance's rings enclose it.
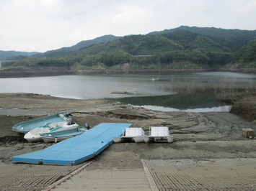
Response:
[[[0,169],[4,168],[8,174],[12,172],[8,172],[6,167],[16,167],[17,170],[26,167],[29,174],[28,164],[12,164],[12,157],[51,144],[27,143],[24,135],[12,131],[12,126],[61,111],[73,113],[74,121],[80,126],[84,126],[84,123],[90,126],[102,122],[132,123],[133,127],[143,127],[146,134],[149,134],[149,126],[168,126],[174,136],[175,142],[171,144],[112,144],[95,157],[87,169],[138,169],[143,168],[141,159],[256,158],[255,139],[242,137],[242,129],[256,131],[255,124],[232,113],[160,112],[104,100],[3,93],[0,94]],[[40,172],[43,173],[43,168],[37,171]],[[1,176],[0,185],[4,177]],[[11,185],[12,181],[0,187],[0,190],[13,190]]]

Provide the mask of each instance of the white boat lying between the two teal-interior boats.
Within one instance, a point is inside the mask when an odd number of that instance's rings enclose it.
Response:
[[[58,132],[65,131],[68,129],[76,129],[79,125],[76,123],[72,123],[72,121],[63,121],[54,124],[45,124],[43,126],[39,126],[36,129],[29,131],[25,134],[24,138],[29,142],[37,142],[43,141],[42,136],[40,134],[45,134],[49,132]]]

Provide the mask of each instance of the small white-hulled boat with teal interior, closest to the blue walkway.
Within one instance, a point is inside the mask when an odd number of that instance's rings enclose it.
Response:
[[[59,142],[63,141],[65,139],[69,139],[73,136],[78,136],[80,134],[83,134],[84,132],[88,131],[89,129],[84,128],[83,126],[79,126],[76,129],[68,129],[64,131],[56,131],[56,132],[49,132],[49,133],[44,133],[40,134],[42,136],[43,141],[45,143],[53,143],[53,142]]]

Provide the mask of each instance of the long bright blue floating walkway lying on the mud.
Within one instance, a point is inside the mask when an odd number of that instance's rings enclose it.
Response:
[[[102,123],[84,134],[53,144],[37,152],[12,157],[12,162],[29,164],[76,165],[94,157],[109,146],[113,137],[132,124]]]

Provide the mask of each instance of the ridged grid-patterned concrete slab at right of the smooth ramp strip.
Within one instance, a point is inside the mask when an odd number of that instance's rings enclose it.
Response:
[[[142,162],[158,190],[256,190],[256,159]]]

